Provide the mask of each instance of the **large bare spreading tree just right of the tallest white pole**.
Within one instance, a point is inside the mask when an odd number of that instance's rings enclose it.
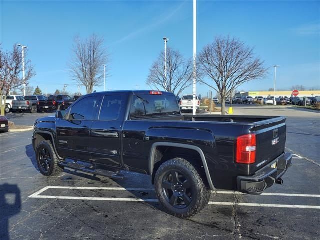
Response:
[[[229,36],[216,37],[212,43],[204,46],[197,60],[204,77],[200,81],[216,90],[221,97],[222,115],[225,114],[225,97],[243,83],[266,74],[263,61],[254,56],[253,48]]]

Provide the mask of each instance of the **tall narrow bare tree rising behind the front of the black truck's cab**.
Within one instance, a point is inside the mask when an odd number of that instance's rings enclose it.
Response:
[[[93,34],[84,40],[78,36],[74,38],[72,59],[68,64],[70,74],[78,84],[85,86],[87,93],[92,93],[93,87],[103,82],[103,65],[107,62],[102,37]]]

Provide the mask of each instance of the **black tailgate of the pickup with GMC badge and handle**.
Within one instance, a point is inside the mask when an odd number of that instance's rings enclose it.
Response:
[[[281,155],[284,152],[286,140],[285,117],[262,122],[252,129],[256,133],[255,166],[257,169]]]

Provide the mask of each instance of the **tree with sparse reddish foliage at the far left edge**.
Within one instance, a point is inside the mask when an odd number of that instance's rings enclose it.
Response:
[[[27,51],[24,53],[27,56]],[[24,61],[25,65],[25,83],[35,75],[30,60]],[[13,45],[12,51],[3,51],[0,46],[0,109],[1,115],[4,115],[6,96],[11,90],[20,88],[23,85],[22,79],[22,54],[21,50]],[[4,96],[4,99],[3,99]],[[2,101],[3,99],[3,101]]]

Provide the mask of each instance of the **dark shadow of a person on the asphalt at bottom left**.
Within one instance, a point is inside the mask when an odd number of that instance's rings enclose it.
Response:
[[[18,186],[7,183],[0,185],[0,239],[9,239],[9,218],[18,214],[20,210],[21,195]]]

